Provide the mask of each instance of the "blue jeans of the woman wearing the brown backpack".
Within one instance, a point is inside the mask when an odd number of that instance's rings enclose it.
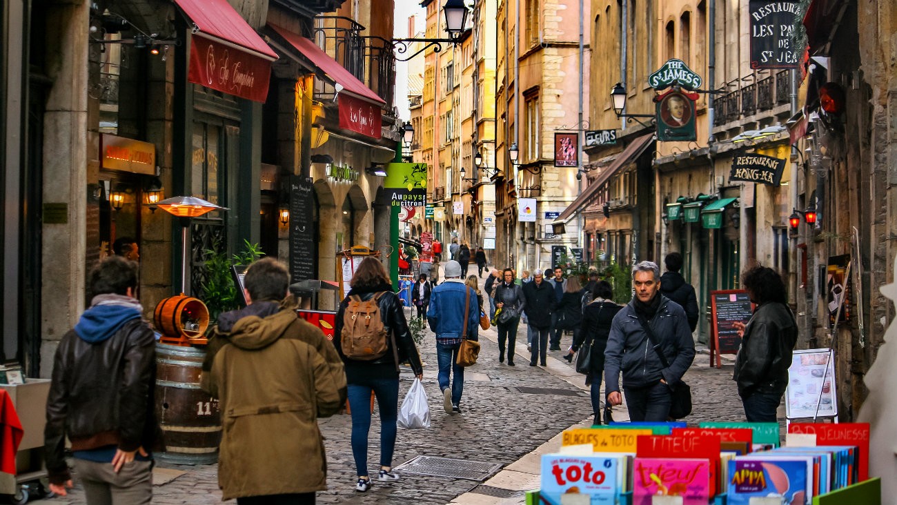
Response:
[[[368,432],[370,431],[370,392],[377,396],[380,411],[380,466],[392,467],[396,448],[398,418],[398,378],[364,379],[350,384],[349,408],[352,409],[352,455],[356,475],[368,475]]]

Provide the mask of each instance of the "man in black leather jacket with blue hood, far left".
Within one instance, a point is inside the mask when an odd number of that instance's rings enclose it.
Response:
[[[155,415],[152,328],[135,299],[137,264],[108,257],[88,274],[91,307],[63,335],[53,359],[44,430],[50,491],[65,496],[74,470],[90,505],[152,501],[152,451],[161,450]]]

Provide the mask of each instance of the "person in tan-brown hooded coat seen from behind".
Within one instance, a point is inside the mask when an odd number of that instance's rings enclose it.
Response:
[[[221,406],[222,500],[313,504],[327,489],[318,418],[344,405],[343,363],[318,327],[296,317],[286,266],[259,259],[243,282],[247,306],[219,316],[201,381]]]

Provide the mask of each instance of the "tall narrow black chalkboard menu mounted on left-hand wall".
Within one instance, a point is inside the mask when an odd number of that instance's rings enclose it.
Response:
[[[308,178],[290,178],[290,275],[292,282],[315,278],[315,199]]]

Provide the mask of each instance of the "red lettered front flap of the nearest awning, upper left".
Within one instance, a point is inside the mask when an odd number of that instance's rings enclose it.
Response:
[[[239,98],[265,102],[271,62],[197,33],[191,39],[187,80]]]

